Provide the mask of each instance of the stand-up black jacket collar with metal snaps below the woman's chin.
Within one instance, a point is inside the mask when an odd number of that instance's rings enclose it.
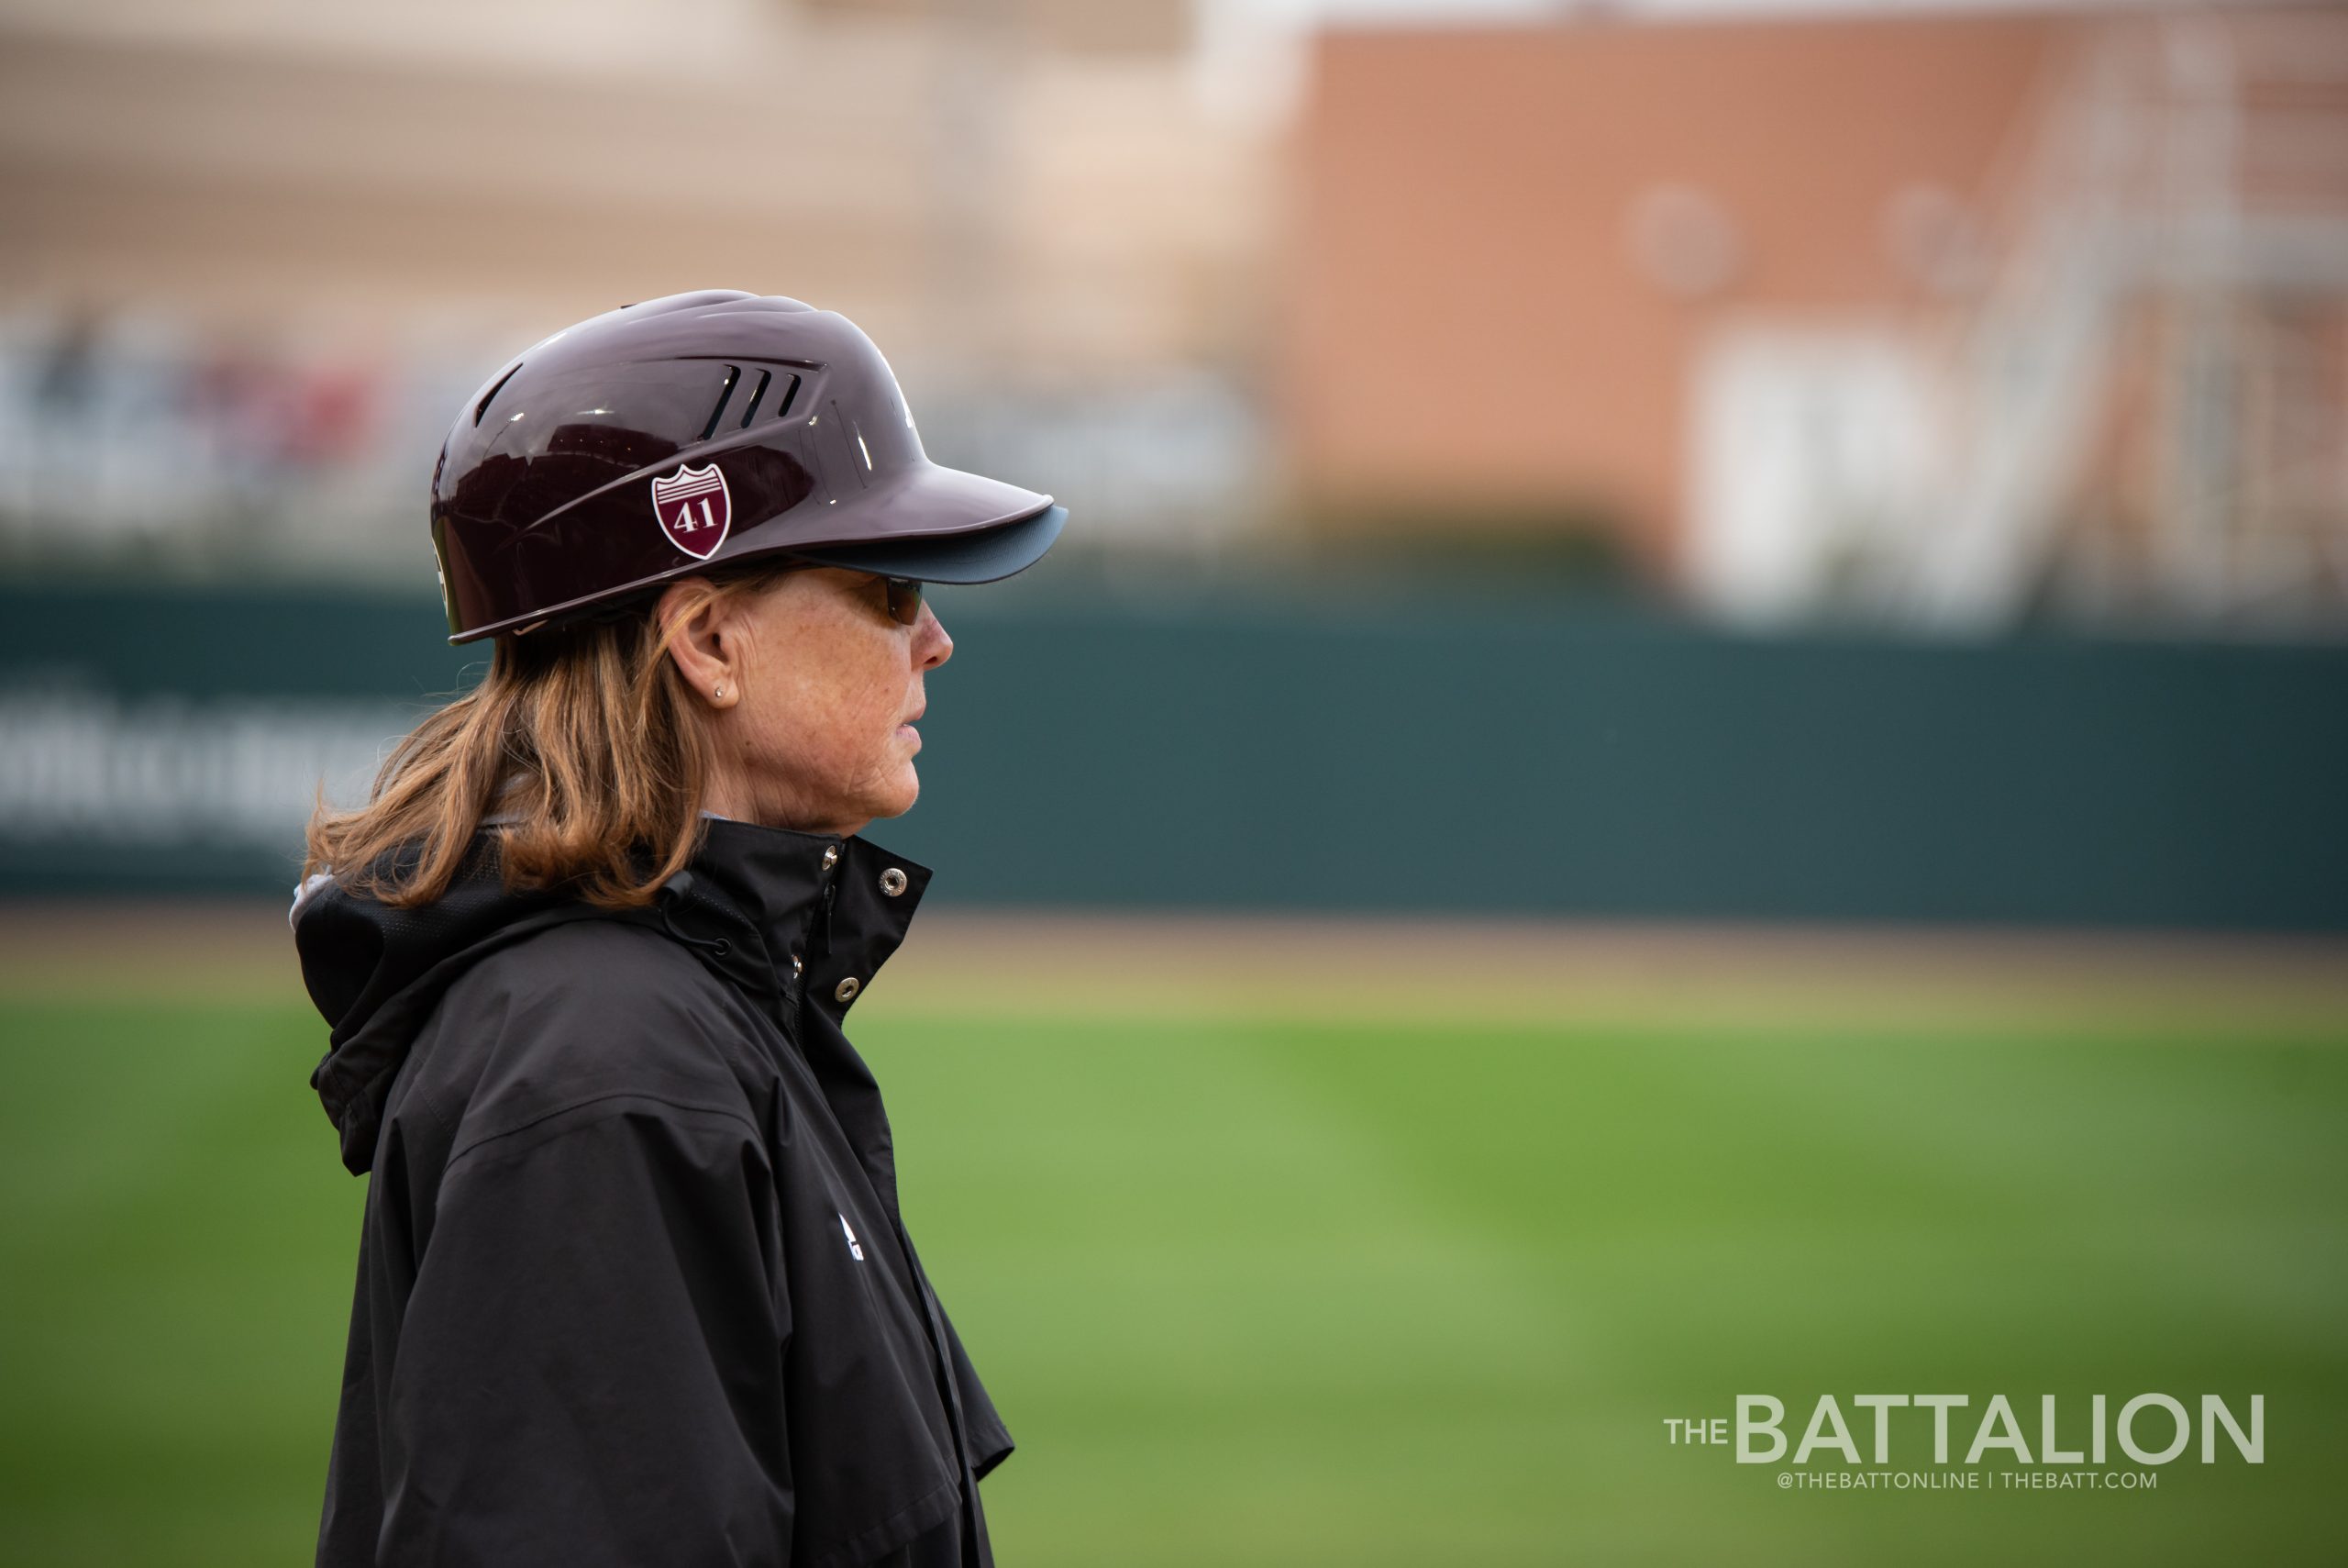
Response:
[[[859,836],[711,817],[662,913],[735,984],[838,1021],[904,941],[927,885],[927,866]]]

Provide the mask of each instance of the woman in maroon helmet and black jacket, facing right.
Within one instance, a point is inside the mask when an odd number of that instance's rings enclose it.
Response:
[[[927,869],[923,582],[1050,495],[932,465],[796,300],[582,322],[458,415],[432,538],[495,636],[294,908],[312,1084],[373,1171],[319,1563],[991,1563],[1012,1441],[841,1023]]]

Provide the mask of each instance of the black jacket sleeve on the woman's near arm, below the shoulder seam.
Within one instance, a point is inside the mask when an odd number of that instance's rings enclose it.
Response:
[[[385,1566],[784,1566],[789,1333],[737,1115],[613,1096],[460,1150],[385,1406]]]

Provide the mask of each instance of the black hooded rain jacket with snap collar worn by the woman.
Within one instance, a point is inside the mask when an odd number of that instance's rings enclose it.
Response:
[[[484,840],[486,843],[486,840]],[[930,873],[709,822],[657,906],[296,908],[373,1171],[317,1561],[991,1563],[1010,1451],[841,1033]]]

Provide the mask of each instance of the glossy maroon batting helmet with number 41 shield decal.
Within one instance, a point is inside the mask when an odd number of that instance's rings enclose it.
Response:
[[[1066,516],[930,462],[855,322],[733,289],[524,350],[458,413],[432,477],[451,643],[754,556],[993,582],[1033,566]]]

